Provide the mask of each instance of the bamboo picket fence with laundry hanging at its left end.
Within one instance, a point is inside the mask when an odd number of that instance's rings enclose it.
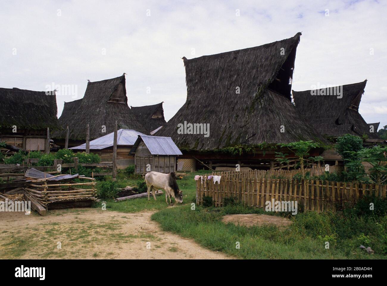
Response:
[[[332,167],[332,166],[331,166]],[[204,196],[211,196],[215,206],[223,206],[224,198],[234,198],[246,206],[264,208],[267,201],[297,201],[298,211],[336,211],[353,205],[364,195],[385,198],[387,185],[361,184],[358,182],[329,182],[320,180],[272,179],[254,176],[260,172],[221,172],[220,183],[197,181],[196,203],[201,205]]]

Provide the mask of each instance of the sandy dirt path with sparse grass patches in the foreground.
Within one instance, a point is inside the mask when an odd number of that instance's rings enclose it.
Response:
[[[161,231],[152,212],[53,210],[41,217],[0,213],[2,258],[229,259]],[[58,245],[61,248],[58,248]]]

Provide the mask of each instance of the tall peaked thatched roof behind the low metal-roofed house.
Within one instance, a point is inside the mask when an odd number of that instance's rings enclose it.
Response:
[[[86,126],[90,126],[90,140],[99,138],[114,131],[115,121],[118,129],[134,129],[148,134],[146,128],[138,121],[128,106],[125,76],[88,82],[82,99],[65,102],[59,122],[66,129],[69,127],[69,138],[86,139]],[[106,132],[102,133],[102,126]],[[57,132],[52,138],[65,138],[66,131]]]

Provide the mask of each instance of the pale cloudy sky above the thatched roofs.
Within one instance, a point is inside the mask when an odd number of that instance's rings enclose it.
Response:
[[[382,127],[386,12],[382,0],[2,0],[0,87],[58,89],[59,117],[64,102],[83,97],[87,79],[125,72],[128,105],[163,101],[168,121],[187,98],[183,56],[255,47],[302,32],[292,89],[367,79],[359,112]]]

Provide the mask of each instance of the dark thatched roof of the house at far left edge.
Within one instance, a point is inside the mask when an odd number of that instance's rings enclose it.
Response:
[[[45,91],[0,88],[0,102],[0,128],[60,128],[55,91],[46,95]]]

